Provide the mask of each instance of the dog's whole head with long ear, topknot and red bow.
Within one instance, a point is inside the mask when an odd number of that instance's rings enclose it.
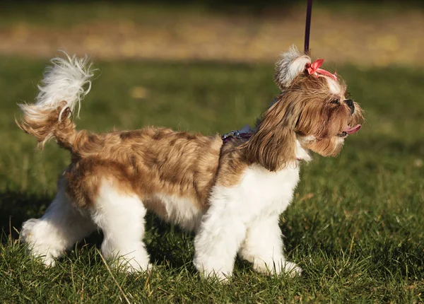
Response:
[[[336,156],[346,137],[360,129],[360,106],[346,96],[341,78],[319,69],[321,64],[295,47],[281,55],[274,77],[281,94],[247,141],[248,160],[278,170],[296,160],[296,139],[303,148]]]

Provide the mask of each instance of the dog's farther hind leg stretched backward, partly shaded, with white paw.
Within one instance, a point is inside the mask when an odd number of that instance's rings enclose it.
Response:
[[[20,237],[33,256],[40,257],[47,266],[54,266],[55,259],[94,230],[90,216],[73,206],[65,194],[64,182],[60,181],[46,213],[41,218],[25,221]]]

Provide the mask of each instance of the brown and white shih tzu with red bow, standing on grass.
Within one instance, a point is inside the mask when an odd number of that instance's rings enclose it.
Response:
[[[90,90],[87,58],[52,59],[36,103],[23,104],[18,126],[41,146],[49,139],[71,153],[57,196],[21,238],[35,257],[54,265],[96,229],[102,255],[127,271],[151,267],[143,243],[146,211],[196,233],[194,265],[227,279],[236,255],[264,273],[300,274],[288,262],[278,221],[290,204],[302,160],[310,151],[336,156],[360,129],[360,106],[346,98],[341,78],[322,60],[291,47],[276,63],[281,89],[256,126],[230,136],[203,136],[146,127],[94,134],[72,116]]]

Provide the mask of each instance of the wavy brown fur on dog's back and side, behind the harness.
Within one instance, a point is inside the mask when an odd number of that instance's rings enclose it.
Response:
[[[66,171],[68,192],[78,205],[91,204],[102,178],[112,178],[141,200],[159,192],[206,206],[220,158],[219,136],[146,128],[79,139],[74,143],[78,159]]]

